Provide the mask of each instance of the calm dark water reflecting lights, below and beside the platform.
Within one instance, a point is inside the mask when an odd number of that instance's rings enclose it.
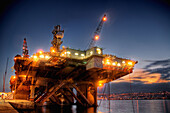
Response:
[[[98,101],[99,103],[99,101]],[[134,109],[133,109],[134,108]],[[170,113],[170,100],[102,100],[100,106],[94,108],[78,108],[44,106],[37,107],[34,111],[24,113]]]

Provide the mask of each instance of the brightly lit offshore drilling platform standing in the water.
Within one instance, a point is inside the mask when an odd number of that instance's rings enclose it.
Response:
[[[106,15],[101,19],[87,50],[60,48],[64,30],[60,25],[52,31],[49,52],[38,51],[28,55],[26,38],[23,54],[14,57],[15,76],[10,88],[14,99],[26,99],[36,104],[97,106],[98,85],[111,82],[132,73],[137,61],[103,54],[95,46]]]

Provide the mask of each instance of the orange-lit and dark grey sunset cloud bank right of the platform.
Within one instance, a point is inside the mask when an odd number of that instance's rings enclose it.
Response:
[[[113,83],[131,82],[135,84],[154,84],[170,82],[170,59],[149,62],[143,69],[136,69]]]

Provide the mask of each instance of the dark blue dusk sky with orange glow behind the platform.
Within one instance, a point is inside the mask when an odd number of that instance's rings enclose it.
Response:
[[[3,2],[2,2],[3,1]],[[86,49],[101,17],[107,14],[97,46],[105,54],[137,60],[133,91],[170,91],[170,3],[168,0],[2,0],[0,2],[0,91],[9,57],[11,67],[27,38],[29,55],[49,51],[52,30],[65,30],[63,44]],[[112,92],[126,92],[129,76],[112,82]],[[117,89],[116,89],[117,88]],[[152,90],[151,90],[152,89]]]

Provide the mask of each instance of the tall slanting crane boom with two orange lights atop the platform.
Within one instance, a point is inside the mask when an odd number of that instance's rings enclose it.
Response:
[[[99,38],[100,38],[100,32],[101,32],[101,29],[102,29],[102,27],[103,27],[103,23],[104,23],[105,21],[107,21],[106,14],[104,14],[104,16],[102,17],[99,25],[97,26],[97,28],[96,28],[96,30],[95,30],[95,32],[94,32],[94,34],[93,34],[92,40],[91,40],[91,42],[89,43],[88,49],[94,47],[96,41],[99,40]]]

